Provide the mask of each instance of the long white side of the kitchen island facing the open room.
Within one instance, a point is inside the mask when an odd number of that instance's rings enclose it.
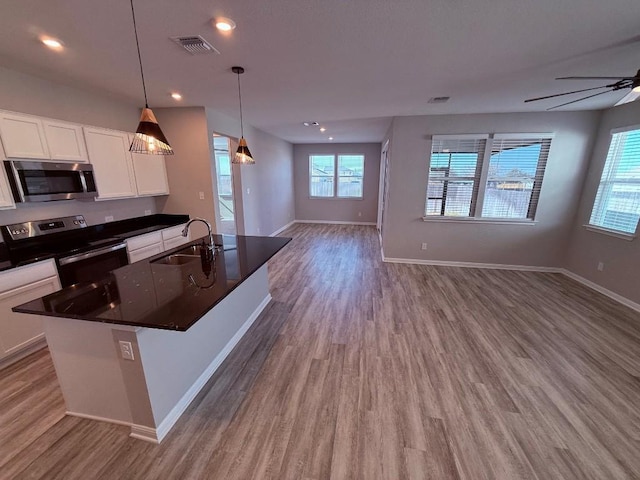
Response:
[[[137,331],[136,350],[144,368],[158,441],[270,299],[267,266],[263,265],[186,332]],[[135,418],[133,423],[137,423]]]

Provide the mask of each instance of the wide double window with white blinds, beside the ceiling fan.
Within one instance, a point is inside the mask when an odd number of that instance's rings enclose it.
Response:
[[[535,218],[549,134],[434,136],[427,217]]]

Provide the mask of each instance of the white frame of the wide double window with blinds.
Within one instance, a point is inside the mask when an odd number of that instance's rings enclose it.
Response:
[[[492,134],[462,134],[462,135],[433,135],[431,137],[432,142],[434,140],[464,140],[464,139],[486,139],[485,149],[482,154],[478,156],[478,168],[480,168],[480,176],[478,178],[478,185],[474,188],[474,198],[471,199],[471,210],[469,216],[465,217],[452,217],[452,216],[444,216],[444,215],[427,215],[427,191],[425,190],[425,214],[422,217],[422,220],[425,222],[462,222],[462,223],[490,223],[490,224],[518,224],[518,225],[535,225],[536,221],[536,213],[538,209],[538,204],[540,200],[540,188],[538,192],[532,192],[532,198],[535,196],[535,204],[533,208],[530,204],[529,208],[533,210],[533,218],[505,218],[505,217],[483,217],[482,210],[484,207],[484,198],[487,190],[487,180],[489,177],[489,166],[491,159],[491,152],[493,149],[493,141],[494,140],[538,140],[545,139],[553,141],[554,134],[553,133],[492,133]],[[429,149],[429,168],[427,173],[427,186],[429,184],[429,173],[431,170],[431,147]],[[546,159],[546,164],[544,165],[544,170],[546,170],[546,166],[548,165],[548,157]],[[538,166],[540,168],[540,165]],[[544,178],[545,171],[542,171],[542,179]],[[537,172],[536,172],[537,176]],[[428,187],[427,187],[428,188]]]

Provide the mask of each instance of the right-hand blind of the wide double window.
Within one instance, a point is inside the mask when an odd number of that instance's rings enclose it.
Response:
[[[491,146],[482,216],[535,217],[550,137],[496,135]]]

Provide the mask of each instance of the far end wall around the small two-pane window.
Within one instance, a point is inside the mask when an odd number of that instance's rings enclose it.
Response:
[[[380,178],[379,143],[317,143],[293,147],[296,220],[375,223]],[[310,198],[309,155],[364,155],[362,199]]]

